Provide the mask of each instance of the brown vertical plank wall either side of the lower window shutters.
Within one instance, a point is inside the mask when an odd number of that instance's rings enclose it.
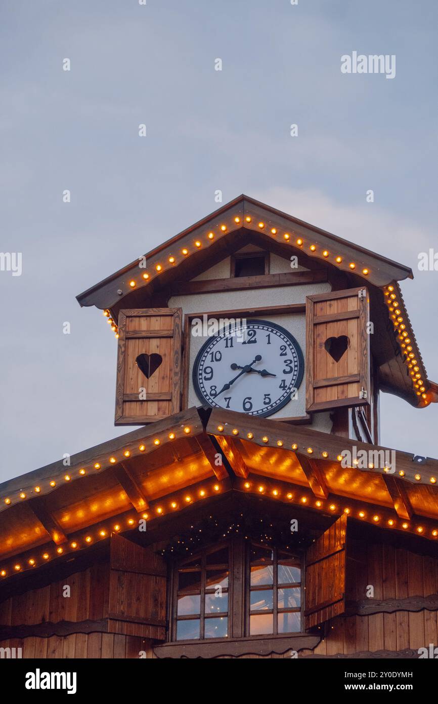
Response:
[[[404,548],[352,541],[347,574],[347,601],[365,601],[367,585],[375,599],[428,596],[438,593],[438,560]],[[0,624],[34,624],[57,620],[83,621],[108,617],[108,565],[95,565],[60,582],[12,596],[0,604]],[[72,586],[72,597],[62,597],[63,584]],[[61,595],[61,596],[60,596]],[[315,650],[299,656],[349,655],[418,650],[438,646],[438,611],[399,611],[368,616],[339,616],[328,622],[326,638]],[[154,658],[151,641],[140,636],[90,633],[0,641],[0,647],[22,648],[24,658],[139,658],[142,650]],[[224,656],[224,658],[229,656]],[[283,655],[242,655],[241,658],[290,658]]]

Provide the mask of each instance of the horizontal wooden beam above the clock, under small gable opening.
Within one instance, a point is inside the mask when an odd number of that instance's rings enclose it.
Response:
[[[170,284],[170,296],[212,294],[217,291],[242,291],[243,289],[267,289],[280,286],[300,286],[327,281],[326,270],[296,271],[264,276],[242,276],[237,279],[204,279],[181,281]]]

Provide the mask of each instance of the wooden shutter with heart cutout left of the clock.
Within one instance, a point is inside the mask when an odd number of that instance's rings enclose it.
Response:
[[[181,308],[121,310],[119,336],[115,425],[141,425],[178,413]]]

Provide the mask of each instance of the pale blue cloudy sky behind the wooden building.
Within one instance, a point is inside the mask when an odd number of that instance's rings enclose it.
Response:
[[[0,481],[129,430],[116,341],[75,296],[217,208],[216,189],[410,265],[438,381],[438,272],[417,270],[438,250],[437,3],[147,2],[1,6],[0,249],[23,262],[0,272]],[[343,75],[352,51],[395,54],[396,77]],[[437,405],[382,398],[383,444],[438,457],[437,425]]]

